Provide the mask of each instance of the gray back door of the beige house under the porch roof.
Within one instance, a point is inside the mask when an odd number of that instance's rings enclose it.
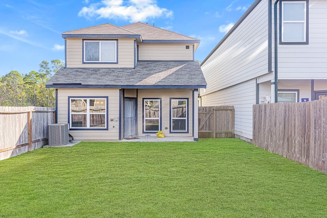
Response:
[[[124,99],[124,138],[132,138],[137,135],[136,124],[136,99]]]

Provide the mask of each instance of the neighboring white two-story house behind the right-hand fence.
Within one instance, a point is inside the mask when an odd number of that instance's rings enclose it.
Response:
[[[251,141],[253,104],[326,98],[326,11],[322,0],[255,1],[202,62],[200,106],[233,105],[236,137]]]

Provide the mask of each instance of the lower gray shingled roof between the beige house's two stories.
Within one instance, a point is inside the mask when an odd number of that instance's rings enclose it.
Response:
[[[205,88],[198,61],[139,61],[136,68],[60,68],[47,88]]]

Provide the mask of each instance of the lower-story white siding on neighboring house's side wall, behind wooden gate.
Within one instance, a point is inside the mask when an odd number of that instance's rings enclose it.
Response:
[[[232,105],[235,109],[236,137],[252,139],[252,107],[255,104],[255,79],[212,93],[201,94],[202,106]]]

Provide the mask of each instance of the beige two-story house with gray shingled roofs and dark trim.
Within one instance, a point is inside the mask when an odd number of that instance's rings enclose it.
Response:
[[[77,140],[135,136],[198,139],[200,40],[142,22],[64,32],[65,66],[46,84],[56,88],[57,123]]]

